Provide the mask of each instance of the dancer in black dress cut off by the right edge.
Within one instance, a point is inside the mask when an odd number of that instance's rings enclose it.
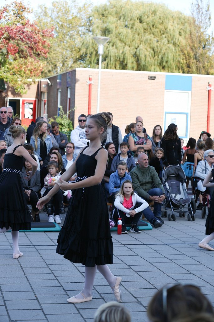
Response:
[[[214,167],[205,177],[205,179],[203,181],[203,186],[213,188],[214,183],[210,182],[210,180],[212,178],[214,180]],[[208,251],[214,251],[214,248],[212,248],[208,245],[208,243],[214,239],[214,193],[211,196],[210,208],[209,208],[208,216],[206,219],[205,227],[206,227],[205,233],[206,233],[206,235],[209,235],[209,236],[205,237],[198,245],[199,245],[199,247],[204,248]]]

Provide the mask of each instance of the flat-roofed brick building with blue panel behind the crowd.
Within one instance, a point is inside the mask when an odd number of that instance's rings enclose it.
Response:
[[[33,116],[57,114],[61,105],[65,112],[71,110],[74,127],[80,114],[88,114],[89,75],[92,76],[91,114],[97,111],[98,69],[76,68],[34,85],[36,110]],[[174,74],[144,71],[102,70],[100,87],[100,111],[113,114],[113,124],[121,128],[142,116],[149,135],[153,127],[161,125],[163,131],[170,123],[178,126],[178,135],[196,140],[202,130],[207,130],[208,82],[214,76]],[[32,88],[30,87],[32,92]],[[5,96],[6,95],[6,96]],[[2,96],[2,95],[1,95]],[[1,97],[1,106],[11,105],[12,92]],[[21,97],[22,103],[29,99],[29,92]],[[13,98],[17,100],[17,97]],[[3,104],[4,101],[4,104]],[[26,102],[29,104],[28,102]],[[24,117],[23,109],[20,112]],[[32,106],[32,105],[31,105]],[[22,113],[22,114],[21,114]],[[210,133],[214,136],[214,97],[211,97]]]

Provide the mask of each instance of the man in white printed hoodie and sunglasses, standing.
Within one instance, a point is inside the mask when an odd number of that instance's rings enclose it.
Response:
[[[89,140],[85,137],[85,127],[86,127],[87,116],[81,114],[78,117],[79,125],[71,131],[71,142],[75,146],[75,153],[78,154],[80,150],[87,145]]]

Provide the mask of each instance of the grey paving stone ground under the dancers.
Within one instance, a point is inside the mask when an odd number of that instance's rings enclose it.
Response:
[[[64,219],[65,215],[63,215]],[[40,214],[42,221],[45,213]],[[191,283],[214,304],[214,252],[198,247],[204,238],[205,219],[176,217],[141,234],[112,232],[114,264],[112,273],[121,276],[123,305],[132,322],[147,322],[146,309],[157,289],[168,283]],[[56,254],[56,232],[21,232],[23,257],[12,258],[11,233],[0,234],[0,322],[92,322],[96,309],[115,300],[106,280],[97,272],[93,300],[69,304],[67,298],[79,293],[84,267]],[[214,242],[210,243],[214,247]]]

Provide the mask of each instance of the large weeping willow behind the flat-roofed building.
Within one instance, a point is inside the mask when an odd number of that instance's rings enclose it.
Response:
[[[102,56],[103,68],[197,72],[193,54],[193,47],[200,46],[197,37],[190,45],[191,29],[193,34],[196,27],[196,19],[162,4],[112,0],[92,9],[81,59],[86,67],[98,66],[97,45],[91,36],[102,35],[111,38]],[[206,56],[211,59],[209,50]]]

